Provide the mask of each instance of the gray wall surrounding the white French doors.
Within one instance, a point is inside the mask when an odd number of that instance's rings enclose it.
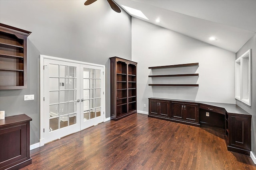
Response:
[[[107,1],[84,6],[84,0],[1,0],[0,22],[31,31],[28,37],[28,88],[1,90],[0,110],[6,116],[26,113],[30,144],[39,142],[41,55],[106,66],[106,117],[110,117],[109,57],[131,60],[131,17],[114,12]],[[35,100],[24,101],[34,94]]]

